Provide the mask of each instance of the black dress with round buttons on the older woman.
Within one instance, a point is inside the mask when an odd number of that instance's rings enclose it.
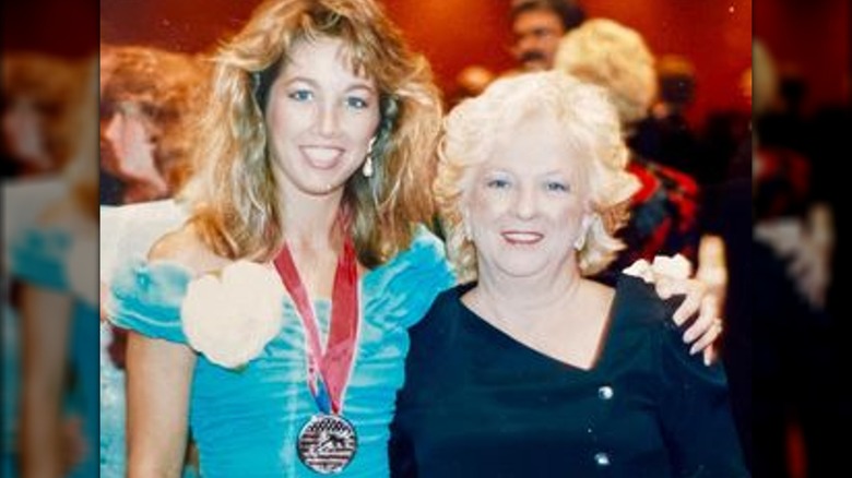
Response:
[[[480,319],[460,299],[470,288],[410,331],[392,476],[748,476],[721,365],[688,355],[674,303],[641,279],[619,280],[590,370]]]

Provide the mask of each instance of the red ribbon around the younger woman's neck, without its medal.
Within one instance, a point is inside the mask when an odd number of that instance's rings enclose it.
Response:
[[[323,352],[313,307],[305,284],[299,277],[289,248],[274,260],[287,292],[296,304],[308,339],[308,387],[322,413],[340,414],[343,394],[350,379],[355,357],[355,342],[358,332],[358,268],[355,261],[355,246],[346,236],[343,252],[338,258],[334,273],[334,288],[331,292],[331,324]]]

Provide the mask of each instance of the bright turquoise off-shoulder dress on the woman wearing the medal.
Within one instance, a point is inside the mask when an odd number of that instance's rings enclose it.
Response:
[[[173,262],[119,266],[107,304],[110,319],[153,338],[186,344],[180,307],[192,277]],[[407,328],[454,283],[442,242],[421,228],[410,248],[360,278],[362,322],[343,415],[358,434],[345,477],[389,475],[389,423],[403,384]],[[323,336],[330,302],[315,302]],[[262,352],[237,370],[199,354],[190,396],[190,428],[200,474],[216,477],[312,477],[296,452],[301,427],[317,413],[307,386],[305,334],[285,299],[283,326]]]

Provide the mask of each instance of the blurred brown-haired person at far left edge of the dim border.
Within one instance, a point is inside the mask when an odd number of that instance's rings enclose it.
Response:
[[[9,244],[33,227],[48,204],[68,193],[60,174],[73,154],[74,101],[80,69],[73,60],[42,52],[3,51],[2,282],[3,476],[15,475],[20,455],[20,287],[11,277]]]

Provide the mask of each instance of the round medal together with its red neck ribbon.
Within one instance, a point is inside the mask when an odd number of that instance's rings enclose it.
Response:
[[[308,389],[319,410],[303,426],[296,451],[301,463],[311,470],[322,475],[336,474],[352,462],[358,449],[355,427],[341,415],[358,328],[355,247],[347,237],[338,260],[324,350],[307,290],[286,246],[274,263],[305,327]]]

